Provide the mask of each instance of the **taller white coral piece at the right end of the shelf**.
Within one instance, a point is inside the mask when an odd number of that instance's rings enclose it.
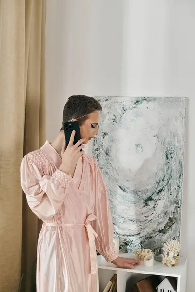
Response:
[[[175,266],[179,259],[181,245],[178,240],[168,240],[163,246],[162,263],[168,267]]]

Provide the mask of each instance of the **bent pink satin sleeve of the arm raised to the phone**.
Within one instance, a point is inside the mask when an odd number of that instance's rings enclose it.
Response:
[[[21,163],[21,186],[31,210],[43,221],[59,210],[72,177],[56,170],[52,176],[41,176],[38,166],[26,155]]]

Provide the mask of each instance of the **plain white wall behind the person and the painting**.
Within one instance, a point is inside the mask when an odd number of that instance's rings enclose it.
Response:
[[[195,0],[47,0],[47,139],[68,96],[187,96],[182,246],[195,261]]]

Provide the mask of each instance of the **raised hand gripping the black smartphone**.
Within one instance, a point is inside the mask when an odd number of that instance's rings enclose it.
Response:
[[[66,147],[64,143],[61,150],[62,164],[59,167],[59,170],[69,174],[73,177],[76,165],[79,158],[84,154],[84,151],[80,151],[85,146],[82,144],[85,139],[80,139],[76,144],[74,144],[75,131],[73,130],[70,136],[69,144]]]

